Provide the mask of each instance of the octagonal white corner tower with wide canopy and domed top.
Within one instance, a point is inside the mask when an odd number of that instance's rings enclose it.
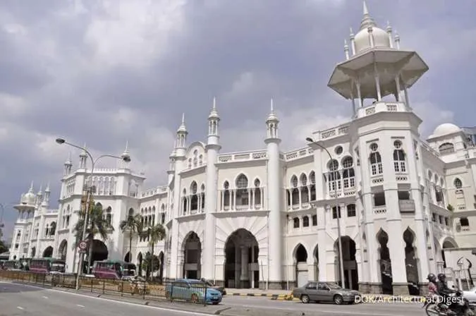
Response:
[[[410,108],[408,89],[428,70],[427,64],[415,51],[400,49],[400,37],[395,36],[393,45],[392,28],[386,30],[377,27],[370,16],[365,1],[363,2],[363,18],[360,30],[353,34],[350,30],[350,52],[344,46],[345,61],[338,63],[334,68],[328,86],[339,95],[352,101],[354,118],[364,116],[379,116],[375,118],[384,127],[384,131],[374,132],[372,135],[360,133],[360,123],[353,122],[353,148],[354,161],[360,159],[357,174],[358,181],[358,213],[363,213],[361,226],[361,244],[365,243],[367,253],[360,250],[363,260],[359,272],[367,278],[362,281],[362,291],[381,293],[384,286],[384,275],[388,267],[391,275],[391,291],[394,294],[408,293],[407,269],[405,268],[405,241],[402,219],[411,217],[415,221],[415,241],[420,267],[417,271],[419,282],[423,282],[428,273],[427,246],[425,244],[425,224],[421,200],[420,186],[418,183],[418,166],[415,159],[417,147],[414,145],[412,130],[416,130],[421,123]],[[351,53],[351,54],[350,54]],[[391,96],[392,97],[388,97]],[[365,99],[372,99],[369,104],[364,104]],[[357,102],[356,102],[357,101]],[[398,112],[398,113],[397,113]],[[387,124],[386,121],[389,121]],[[405,121],[405,128],[392,128],[395,121]],[[403,152],[404,150],[404,152]],[[395,154],[405,157],[402,169],[401,162],[394,162]],[[401,154],[401,156],[400,156]],[[368,159],[370,157],[370,159]],[[372,157],[373,160],[372,160]],[[405,176],[402,176],[405,174]],[[376,179],[379,179],[378,182]],[[398,180],[397,180],[398,178]],[[424,177],[422,177],[424,178]],[[377,182],[376,182],[377,181]],[[360,185],[361,183],[361,185]],[[405,186],[402,189],[401,186]],[[408,190],[410,187],[410,190]],[[410,201],[401,203],[400,196],[410,192]],[[379,192],[377,192],[379,191]],[[382,192],[383,191],[383,192]],[[401,194],[402,193],[402,194]],[[374,198],[376,195],[385,201],[385,217],[377,218],[374,214]],[[361,197],[361,200],[360,200]],[[415,204],[413,211],[403,211],[401,205]],[[411,207],[410,207],[411,208]],[[411,213],[411,214],[409,214]],[[382,226],[382,221],[385,225]],[[377,225],[385,229],[378,232]],[[378,233],[378,236],[377,236]],[[365,241],[362,236],[365,235]],[[386,237],[382,237],[386,236]],[[381,238],[377,241],[378,238]],[[382,245],[388,247],[389,258],[377,253]],[[364,247],[364,246],[362,246]],[[386,262],[387,268],[383,269],[379,262]],[[366,287],[367,286],[367,287]]]

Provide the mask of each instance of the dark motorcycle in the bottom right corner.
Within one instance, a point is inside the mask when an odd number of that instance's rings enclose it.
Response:
[[[441,296],[427,296],[422,308],[428,316],[474,316],[470,302],[463,297],[463,291],[459,289],[451,293],[444,301]]]

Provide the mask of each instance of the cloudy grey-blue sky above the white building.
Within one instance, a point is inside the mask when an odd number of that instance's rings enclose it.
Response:
[[[28,2],[28,5],[27,5]],[[457,4],[456,4],[457,2]],[[367,0],[381,28],[429,71],[409,90],[427,137],[439,123],[475,126],[473,0]],[[54,140],[121,154],[126,142],[146,187],[164,184],[185,113],[188,143],[206,140],[216,97],[221,152],[265,147],[269,100],[281,149],[343,123],[350,101],[327,87],[345,59],[361,0],[42,0],[0,2],[0,203],[6,236],[13,205],[34,181],[57,207],[63,163]],[[103,160],[99,166],[115,166]]]

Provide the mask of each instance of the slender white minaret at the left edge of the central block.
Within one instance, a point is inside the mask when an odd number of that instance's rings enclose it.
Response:
[[[179,267],[183,262],[179,262],[179,253],[176,245],[178,245],[178,216],[180,214],[181,209],[181,192],[180,192],[180,185],[181,185],[181,175],[180,172],[185,168],[185,154],[187,151],[186,142],[187,142],[187,135],[188,131],[185,127],[185,114],[182,114],[182,123],[181,126],[178,128],[176,133],[176,142],[175,142],[175,149],[173,150],[173,159],[175,159],[175,172],[173,175],[173,209],[170,209],[171,218],[172,218],[172,238],[171,244],[171,253],[170,253],[170,267],[169,271],[169,278],[177,278],[180,272]],[[180,256],[183,257],[183,256]]]

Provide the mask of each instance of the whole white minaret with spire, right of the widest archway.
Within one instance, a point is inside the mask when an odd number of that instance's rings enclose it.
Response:
[[[269,209],[269,286],[271,288],[281,288],[282,260],[281,255],[283,219],[281,217],[281,198],[279,197],[279,189],[281,188],[281,166],[279,160],[279,144],[281,140],[278,137],[279,120],[274,112],[273,99],[271,99],[271,111],[266,121],[267,138],[264,142],[267,145],[268,155],[268,209]]]

